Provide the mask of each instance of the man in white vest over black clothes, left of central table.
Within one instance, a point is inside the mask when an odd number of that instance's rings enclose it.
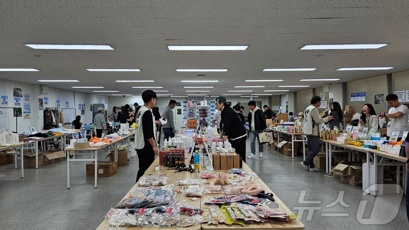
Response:
[[[156,93],[152,90],[148,89],[142,92],[144,105],[140,107],[135,116],[134,148],[139,159],[139,170],[136,182],[138,182],[139,178],[145,173],[153,161],[155,161],[155,155],[159,155],[156,123],[152,114],[152,108],[156,104],[156,99]]]

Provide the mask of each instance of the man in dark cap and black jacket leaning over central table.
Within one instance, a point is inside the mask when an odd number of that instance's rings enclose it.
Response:
[[[229,138],[231,147],[246,162],[246,128],[238,114],[226,103],[225,97],[216,98],[216,107],[222,114],[220,136],[223,135],[223,141]]]

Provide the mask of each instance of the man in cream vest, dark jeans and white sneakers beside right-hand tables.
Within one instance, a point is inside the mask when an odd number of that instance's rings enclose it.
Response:
[[[301,162],[304,170],[310,172],[319,171],[319,168],[314,165],[314,157],[319,153],[319,124],[331,121],[333,116],[321,118],[318,112],[318,107],[321,106],[321,97],[315,96],[311,99],[311,105],[304,112],[304,134],[307,135],[308,156],[306,160]]]

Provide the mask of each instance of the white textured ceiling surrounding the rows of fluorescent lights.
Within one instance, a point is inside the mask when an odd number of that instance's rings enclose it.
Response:
[[[37,68],[37,72],[0,72],[0,78],[50,87],[103,86],[112,94],[140,95],[132,86],[162,86],[185,96],[183,86],[215,86],[206,93],[240,90],[234,86],[321,87],[305,78],[341,78],[338,82],[409,69],[407,0],[13,0],[0,3],[0,68]],[[305,44],[375,43],[379,49],[300,50]],[[115,50],[40,50],[22,43],[110,44]],[[166,44],[249,44],[245,51],[169,51]],[[39,58],[34,55],[40,55]],[[323,55],[317,57],[317,55]],[[394,67],[375,71],[335,71],[340,67]],[[308,67],[315,71],[263,72],[265,68]],[[86,68],[139,68],[141,72],[90,72]],[[176,72],[184,68],[227,68],[227,72]],[[205,78],[196,75],[204,74]],[[116,83],[114,80],[155,80]],[[284,79],[282,82],[244,82]],[[180,80],[220,80],[181,83]],[[188,89],[196,90],[196,89]],[[246,90],[241,88],[241,90]],[[248,90],[248,89],[247,89]],[[163,92],[160,94],[167,94]],[[107,93],[109,95],[110,93]],[[159,94],[159,93],[158,93]],[[194,93],[189,93],[194,94]],[[280,94],[280,93],[278,93]],[[277,93],[275,95],[278,95]],[[281,93],[282,94],[282,93]]]

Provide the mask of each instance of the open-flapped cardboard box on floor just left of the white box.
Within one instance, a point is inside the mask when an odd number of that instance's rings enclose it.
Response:
[[[350,185],[362,184],[362,161],[342,161],[334,167],[333,178]]]

